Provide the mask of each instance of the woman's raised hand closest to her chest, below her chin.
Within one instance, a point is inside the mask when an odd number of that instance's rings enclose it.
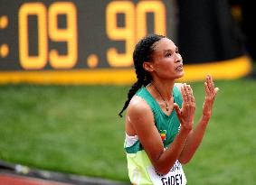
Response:
[[[193,90],[189,85],[184,84],[181,87],[181,94],[183,97],[182,108],[179,109],[179,106],[176,103],[174,104],[176,115],[185,130],[192,130],[195,111]]]

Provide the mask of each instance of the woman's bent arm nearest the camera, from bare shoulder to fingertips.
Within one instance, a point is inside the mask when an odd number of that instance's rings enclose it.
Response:
[[[135,130],[148,158],[156,171],[166,174],[183,151],[186,138],[193,127],[194,103],[191,101],[191,88],[182,88],[185,98],[182,107],[183,123],[171,147],[164,149],[161,136],[156,129],[154,116],[147,103],[140,97],[134,97],[128,106],[128,117],[131,127]]]

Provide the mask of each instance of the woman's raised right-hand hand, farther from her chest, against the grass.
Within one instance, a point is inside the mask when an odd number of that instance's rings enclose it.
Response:
[[[219,88],[214,88],[213,78],[207,75],[204,82],[205,99],[203,106],[203,116],[210,118],[213,113],[213,102],[217,95]]]

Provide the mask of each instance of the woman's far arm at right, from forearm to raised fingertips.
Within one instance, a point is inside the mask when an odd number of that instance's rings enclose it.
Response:
[[[189,162],[194,156],[195,151],[203,140],[204,132],[213,112],[214,97],[219,88],[214,88],[213,79],[210,75],[206,76],[204,82],[205,100],[203,106],[203,115],[194,130],[191,130],[187,137],[185,147],[179,156],[179,161],[182,163]]]

